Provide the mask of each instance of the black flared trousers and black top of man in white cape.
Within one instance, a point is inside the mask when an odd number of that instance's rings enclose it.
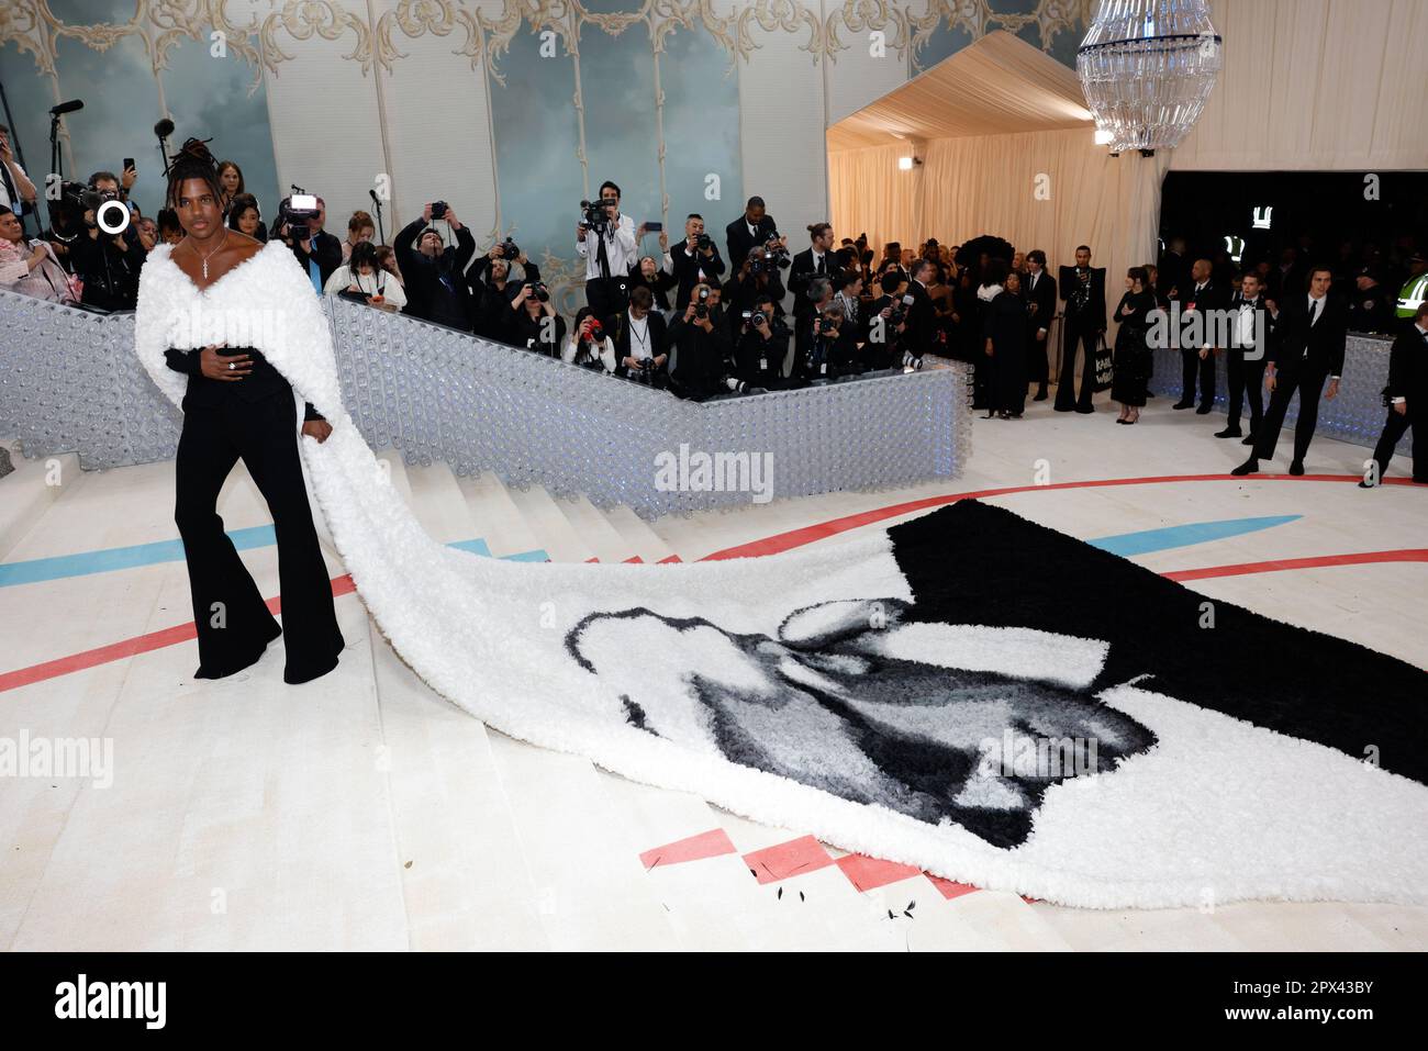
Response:
[[[188,376],[174,458],[174,521],[188,563],[198,631],[194,678],[241,671],[281,633],[287,650],[283,678],[306,683],[337,665],[344,641],[303,486],[293,387],[257,350],[224,353],[251,354],[253,371],[236,383],[210,380],[200,370],[198,351],[164,351],[169,367]],[[307,406],[304,418],[323,417]],[[217,513],[218,491],[240,457],[273,513],[281,628]]]

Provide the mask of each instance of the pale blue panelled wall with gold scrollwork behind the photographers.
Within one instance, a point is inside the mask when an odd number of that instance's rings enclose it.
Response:
[[[827,218],[824,130],[984,33],[1074,64],[1091,0],[0,0],[0,83],[36,177],[49,109],[66,177],[136,157],[154,123],[213,137],[270,218],[291,184],[341,236],[386,197],[391,233],[446,200],[481,246],[513,236],[567,308],[577,204],[611,178],[638,224],[723,228],[750,194],[791,244]],[[841,236],[841,233],[840,233]],[[657,251],[651,234],[644,250]]]

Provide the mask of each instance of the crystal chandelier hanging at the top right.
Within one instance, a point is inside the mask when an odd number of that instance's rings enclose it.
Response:
[[[1221,51],[1207,0],[1101,0],[1075,69],[1111,151],[1178,146],[1215,86]]]

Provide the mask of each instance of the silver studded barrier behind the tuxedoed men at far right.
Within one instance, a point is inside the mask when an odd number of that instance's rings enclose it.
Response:
[[[1388,386],[1388,348],[1392,343],[1392,338],[1387,336],[1349,333],[1344,346],[1344,376],[1339,380],[1339,393],[1332,401],[1319,398],[1319,420],[1314,428],[1315,434],[1327,434],[1331,438],[1369,448],[1378,444],[1378,436],[1384,433],[1384,423],[1388,418],[1382,390]],[[1230,411],[1230,381],[1225,368],[1225,356],[1221,354],[1215,358],[1215,408],[1221,413]],[[1180,350],[1174,347],[1155,350],[1155,373],[1151,376],[1150,388],[1155,391],[1157,397],[1180,400],[1185,390]],[[1268,408],[1269,391],[1261,388],[1259,398],[1261,404]],[[1291,440],[1294,421],[1298,418],[1299,396],[1295,393],[1289,401],[1289,410],[1284,414],[1281,443]],[[1248,433],[1248,407],[1241,411],[1240,427]],[[1398,453],[1407,456],[1411,444],[1412,440],[1405,434],[1397,446]]]

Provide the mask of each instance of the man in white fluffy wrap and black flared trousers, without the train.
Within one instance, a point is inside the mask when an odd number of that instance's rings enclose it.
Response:
[[[337,667],[343,635],[317,543],[297,450],[293,387],[257,344],[280,354],[307,350],[321,311],[293,253],[223,224],[223,184],[207,147],[190,139],[169,171],[169,206],[184,237],[159,246],[144,264],[134,317],[136,351],[160,386],[187,376],[183,431],[174,458],[174,521],[188,563],[198,635],[196,678],[223,678],[251,665],[286,635],[287,683]],[[328,423],[306,407],[301,433],[316,441]],[[283,627],[238,558],[217,514],[218,491],[243,460],[273,513]]]

